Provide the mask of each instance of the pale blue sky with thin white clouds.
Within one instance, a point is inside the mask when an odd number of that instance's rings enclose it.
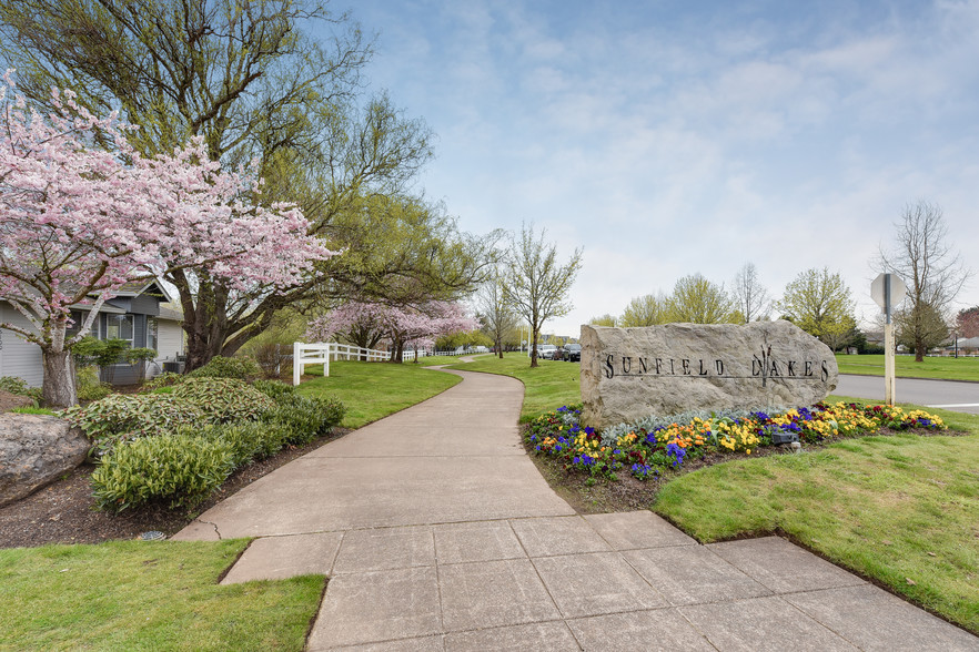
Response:
[[[869,322],[871,258],[922,198],[979,268],[979,0],[331,7],[377,33],[372,86],[437,134],[430,197],[471,232],[584,248],[545,332],[746,262],[776,297],[838,271]]]

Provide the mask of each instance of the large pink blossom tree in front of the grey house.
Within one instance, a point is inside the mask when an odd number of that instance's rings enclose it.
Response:
[[[78,403],[71,348],[123,284],[201,268],[231,287],[289,284],[333,254],[294,206],[249,203],[254,175],[222,171],[201,139],[144,159],[114,113],[52,90],[44,116],[13,93],[11,71],[3,81],[0,300],[30,327],[0,327],[41,348],[46,404]],[[88,314],[69,337],[72,306]]]

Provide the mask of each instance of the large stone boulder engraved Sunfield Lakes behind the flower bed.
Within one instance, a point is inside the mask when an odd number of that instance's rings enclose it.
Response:
[[[837,377],[829,347],[789,322],[582,326],[582,421],[596,428],[688,410],[809,406]]]

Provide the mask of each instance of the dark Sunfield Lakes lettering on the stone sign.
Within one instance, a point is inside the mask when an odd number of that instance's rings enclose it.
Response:
[[[737,373],[744,367],[745,373]],[[828,359],[815,360],[779,360],[766,352],[760,357],[753,356],[750,373],[748,365],[725,364],[725,360],[716,357],[700,358],[672,358],[658,356],[620,355],[608,353],[605,355],[603,374],[605,378],[639,377],[639,376],[690,376],[715,378],[787,378],[799,380],[820,380],[829,378],[830,367]]]

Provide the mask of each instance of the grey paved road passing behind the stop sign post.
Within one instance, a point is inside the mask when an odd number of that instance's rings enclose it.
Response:
[[[979,415],[979,383],[898,378],[896,384],[895,398],[898,403],[915,403]],[[834,394],[884,400],[884,377],[840,374],[839,385]]]

